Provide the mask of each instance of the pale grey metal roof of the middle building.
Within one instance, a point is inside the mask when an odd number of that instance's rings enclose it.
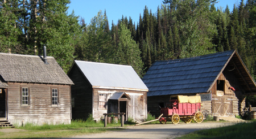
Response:
[[[79,60],[75,60],[75,64],[80,68],[81,72],[94,88],[148,90],[147,86],[131,66]]]

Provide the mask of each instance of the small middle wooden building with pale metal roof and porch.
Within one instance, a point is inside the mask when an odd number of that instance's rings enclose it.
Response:
[[[147,86],[131,66],[75,60],[68,76],[72,86],[72,118],[98,120],[104,113],[125,112],[135,120],[147,116]]]

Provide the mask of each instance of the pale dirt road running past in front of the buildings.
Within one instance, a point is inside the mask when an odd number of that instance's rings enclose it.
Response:
[[[175,138],[189,132],[201,129],[217,128],[234,123],[179,123],[179,124],[147,124],[130,126],[122,131],[112,131],[98,134],[86,134],[70,138]]]

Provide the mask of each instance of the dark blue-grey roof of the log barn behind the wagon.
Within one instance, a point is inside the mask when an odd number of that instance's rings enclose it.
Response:
[[[244,90],[255,93],[255,81],[235,50],[193,58],[156,61],[142,80],[149,89],[148,96],[206,93],[228,64],[237,67],[236,75],[239,76],[241,84],[245,84]]]

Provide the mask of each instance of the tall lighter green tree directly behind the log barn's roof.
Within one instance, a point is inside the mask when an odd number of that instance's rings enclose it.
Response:
[[[215,25],[209,20],[210,0],[165,1],[175,7],[181,34],[181,58],[214,53],[212,34]],[[196,11],[196,12],[193,12]]]

